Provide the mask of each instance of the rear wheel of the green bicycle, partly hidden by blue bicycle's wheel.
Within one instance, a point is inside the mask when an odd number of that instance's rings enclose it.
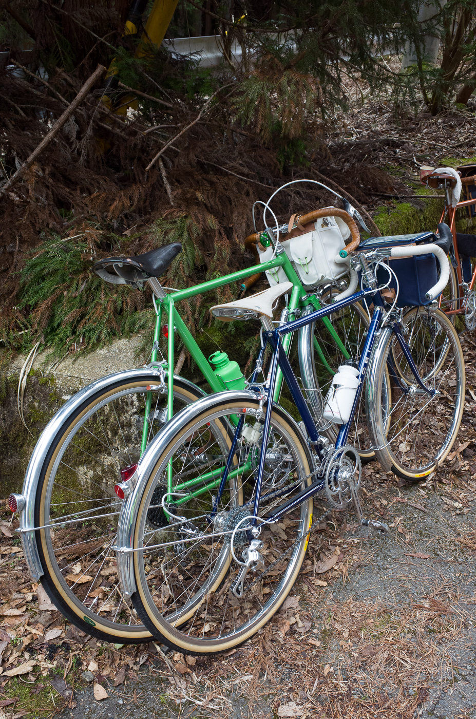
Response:
[[[78,628],[106,641],[137,644],[150,633],[122,600],[112,547],[122,502],[114,493],[121,470],[139,461],[147,392],[152,397],[147,441],[166,420],[167,394],[152,371],[111,377],[87,398],[51,442],[35,496],[42,585]],[[203,396],[174,377],[173,411]]]

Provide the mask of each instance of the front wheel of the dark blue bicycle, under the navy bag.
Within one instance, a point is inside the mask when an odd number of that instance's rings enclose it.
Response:
[[[418,385],[395,334],[388,328],[370,359],[367,415],[383,468],[409,482],[418,482],[439,467],[456,439],[464,404],[464,360],[457,332],[439,310],[414,308],[405,316],[405,332],[416,369],[435,393],[429,395]],[[391,407],[385,413],[375,390],[387,366]]]

